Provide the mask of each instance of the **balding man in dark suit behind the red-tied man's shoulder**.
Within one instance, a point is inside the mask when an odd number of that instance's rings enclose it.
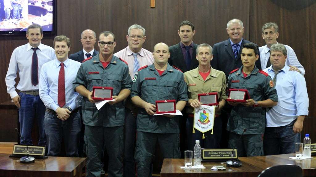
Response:
[[[83,50],[69,55],[69,58],[71,60],[79,61],[80,63],[82,63],[83,60],[86,60],[90,56],[95,56],[99,54],[98,51],[94,50],[94,44],[96,40],[97,38],[95,37],[94,31],[89,29],[82,31],[80,41],[82,43]]]

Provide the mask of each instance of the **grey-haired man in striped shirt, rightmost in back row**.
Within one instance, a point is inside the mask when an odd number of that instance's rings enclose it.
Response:
[[[266,45],[259,47],[260,57],[261,57],[261,69],[268,68],[271,66],[270,63],[270,47],[276,44],[276,39],[279,37],[279,27],[276,23],[266,23],[262,26],[262,38],[264,39]],[[301,63],[298,61],[294,50],[288,46],[284,45],[287,50],[286,65],[290,66],[290,71],[299,71],[303,76],[305,70]]]

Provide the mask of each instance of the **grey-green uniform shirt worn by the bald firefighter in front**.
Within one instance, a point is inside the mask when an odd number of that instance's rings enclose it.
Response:
[[[183,73],[169,64],[160,76],[154,64],[143,68],[136,74],[132,85],[131,98],[139,96],[142,100],[156,104],[157,100],[188,101]],[[138,109],[137,131],[150,133],[179,133],[179,116],[151,116],[144,108]]]

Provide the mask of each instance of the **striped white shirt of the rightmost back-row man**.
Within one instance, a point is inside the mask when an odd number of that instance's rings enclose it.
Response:
[[[296,66],[301,71],[302,75],[304,76],[305,69],[301,65],[301,63],[298,61],[294,50],[288,45],[284,45],[284,47],[286,48],[286,51],[287,51],[287,58],[285,60],[285,65]],[[269,57],[270,57],[269,51],[270,51],[270,49],[267,47],[267,45],[259,47],[259,52],[260,52],[260,57],[261,57],[260,58],[261,69],[265,69],[267,66],[267,62],[268,62]]]

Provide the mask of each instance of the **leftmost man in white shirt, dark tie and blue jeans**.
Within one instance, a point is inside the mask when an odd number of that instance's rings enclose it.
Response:
[[[43,120],[45,106],[39,95],[39,73],[44,63],[56,58],[54,49],[41,43],[43,29],[38,24],[28,26],[26,37],[28,43],[14,49],[5,83],[15,106],[19,109],[21,129],[20,144],[33,145],[31,130],[33,120],[37,120],[39,128],[39,145],[45,146],[45,131]],[[19,83],[15,90],[16,73],[19,73]]]

